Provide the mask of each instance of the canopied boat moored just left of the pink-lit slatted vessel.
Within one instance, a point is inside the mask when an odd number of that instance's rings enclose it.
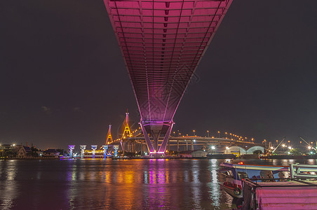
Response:
[[[220,173],[224,175],[224,183],[220,183],[221,188],[234,198],[243,197],[242,181],[244,179],[271,179],[287,178],[289,176],[289,167],[285,166],[265,166],[265,165],[244,165],[221,163]]]

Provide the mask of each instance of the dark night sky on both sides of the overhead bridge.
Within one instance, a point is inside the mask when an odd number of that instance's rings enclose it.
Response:
[[[317,1],[235,0],[174,131],[317,139]],[[0,144],[67,148],[139,121],[102,0],[0,1]]]

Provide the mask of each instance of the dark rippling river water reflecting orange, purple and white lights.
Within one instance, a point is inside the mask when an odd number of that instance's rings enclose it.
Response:
[[[223,161],[0,160],[0,209],[229,209],[217,172]]]

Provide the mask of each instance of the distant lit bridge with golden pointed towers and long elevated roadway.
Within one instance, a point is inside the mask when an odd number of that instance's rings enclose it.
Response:
[[[111,125],[109,125],[109,130],[107,133],[105,145],[108,145],[111,148],[114,145],[121,146],[121,151],[124,154],[127,153],[140,153],[140,155],[150,154],[149,148],[147,147],[147,142],[144,141],[144,133],[142,132],[141,127],[139,129],[133,130],[129,125],[128,113],[126,113],[126,119],[123,121],[121,127],[123,128],[122,133],[119,134],[118,139],[112,139]],[[255,144],[253,138],[247,138],[232,134],[229,132],[214,132],[216,135],[210,136],[210,132],[206,132],[206,136],[194,135],[181,135],[181,133],[173,132],[168,137],[168,142],[166,144],[166,151],[194,151],[194,150],[205,150],[209,152],[221,152],[223,153],[226,150],[236,147],[238,150],[241,150],[241,153],[247,153],[250,148],[255,148],[260,146],[263,150],[263,144]],[[162,142],[158,142],[158,147],[161,147]],[[110,150],[111,151],[111,150]],[[155,153],[155,151],[154,151]],[[163,154],[157,152],[158,154]]]

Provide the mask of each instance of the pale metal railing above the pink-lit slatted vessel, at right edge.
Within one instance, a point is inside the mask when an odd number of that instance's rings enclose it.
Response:
[[[315,172],[315,174],[309,172]],[[317,179],[317,165],[290,164],[290,177],[292,179]]]

